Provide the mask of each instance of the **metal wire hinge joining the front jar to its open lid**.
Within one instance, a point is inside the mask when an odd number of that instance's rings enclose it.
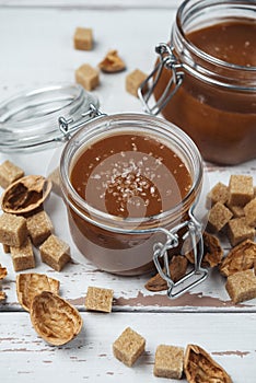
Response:
[[[105,113],[102,113],[95,105],[90,104],[89,111],[81,114],[81,118],[74,120],[73,118],[66,119],[63,116],[58,118],[59,130],[62,134],[63,140],[69,140],[71,135],[77,131],[84,123],[88,123],[91,119],[96,117],[106,116]]]

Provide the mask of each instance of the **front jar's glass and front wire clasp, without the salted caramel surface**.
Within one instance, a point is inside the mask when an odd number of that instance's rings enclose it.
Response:
[[[151,217],[120,218],[105,209],[98,210],[79,195],[72,184],[72,171],[78,159],[95,142],[124,134],[142,135],[163,142],[182,159],[190,174],[191,187],[179,204]],[[83,158],[86,161],[86,156]],[[197,282],[206,278],[207,270],[200,267],[201,228],[194,217],[202,184],[202,162],[197,147],[181,129],[163,119],[140,114],[96,117],[86,123],[65,147],[60,160],[60,178],[73,241],[80,252],[100,269],[135,276],[152,270],[154,259],[159,271],[168,282],[170,295],[179,294],[190,285],[182,290],[179,287],[178,292],[173,293],[171,290],[177,285],[163,271],[162,260],[165,266],[168,265],[168,251],[183,245],[188,237],[194,243],[197,260],[195,270],[188,272],[181,282],[195,275]],[[199,243],[200,248],[196,243]]]

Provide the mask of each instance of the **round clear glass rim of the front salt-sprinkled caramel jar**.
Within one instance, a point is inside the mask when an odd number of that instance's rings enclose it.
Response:
[[[109,132],[112,132],[115,128],[120,126],[124,127],[125,123],[128,123],[131,126],[135,124],[137,126],[143,124],[144,131],[151,132],[153,136],[156,136],[156,134],[162,134],[168,138],[168,140],[171,140],[171,138],[176,140],[175,144],[178,142],[178,144],[183,147],[179,147],[179,149],[183,150],[183,155],[186,154],[187,156],[190,156],[190,163],[194,166],[194,174],[191,174],[191,171],[188,170],[193,178],[191,188],[184,199],[173,208],[151,217],[120,218],[92,207],[75,192],[74,187],[72,186],[70,181],[71,159],[75,152],[81,150],[81,148],[84,146],[84,141],[86,139],[91,139],[92,137],[98,138],[98,136],[104,134],[109,135]],[[123,132],[124,131],[127,130],[123,130]],[[132,131],[135,131],[133,127]],[[79,143],[81,137],[83,139],[82,144]],[[174,143],[174,141],[172,141],[172,143]],[[162,118],[147,116],[139,113],[120,113],[109,116],[105,115],[90,120],[68,141],[60,159],[60,181],[66,202],[70,205],[70,207],[73,208],[78,214],[82,216],[91,223],[94,223],[105,230],[121,233],[147,232],[147,223],[151,225],[152,222],[163,222],[167,220],[170,216],[181,216],[181,213],[184,212],[184,209],[187,211],[195,200],[195,195],[197,195],[197,192],[201,187],[202,173],[202,160],[199,150],[194,141],[182,129]],[[86,211],[88,214],[84,214],[84,211]],[[97,220],[96,222],[95,219]],[[144,229],[141,229],[143,224]],[[132,228],[136,228],[136,230],[133,231]],[[151,231],[152,229],[149,230]]]

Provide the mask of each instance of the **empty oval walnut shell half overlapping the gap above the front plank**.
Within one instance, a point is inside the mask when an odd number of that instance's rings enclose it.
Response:
[[[49,291],[43,291],[33,299],[31,321],[37,334],[54,346],[73,339],[83,324],[77,309]]]

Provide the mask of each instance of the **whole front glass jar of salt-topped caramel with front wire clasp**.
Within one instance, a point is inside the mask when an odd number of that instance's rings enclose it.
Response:
[[[100,269],[136,276],[152,270],[154,260],[170,295],[206,278],[194,214],[202,162],[181,129],[143,114],[93,118],[66,144],[60,178],[73,241]],[[185,242],[196,254],[195,269],[174,283],[164,266]]]

